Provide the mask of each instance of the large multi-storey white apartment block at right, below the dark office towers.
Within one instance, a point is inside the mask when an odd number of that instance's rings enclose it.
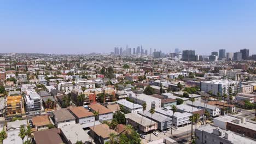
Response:
[[[233,86],[234,85],[234,86]],[[202,81],[201,82],[201,91],[209,92],[212,91],[212,94],[217,95],[219,92],[220,95],[223,94],[233,94],[240,91],[238,81],[231,80],[212,80],[212,81]],[[229,90],[232,89],[232,93],[229,93]]]

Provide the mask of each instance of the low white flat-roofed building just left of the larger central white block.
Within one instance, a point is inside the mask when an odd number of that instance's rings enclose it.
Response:
[[[130,101],[127,101],[125,99],[118,100],[115,103],[117,103],[118,105],[123,105],[124,109],[131,112],[131,113],[143,111],[143,106],[142,105],[131,103]]]

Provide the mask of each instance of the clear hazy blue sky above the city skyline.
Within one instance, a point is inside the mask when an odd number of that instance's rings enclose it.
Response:
[[[256,1],[0,1],[0,52],[256,54]]]

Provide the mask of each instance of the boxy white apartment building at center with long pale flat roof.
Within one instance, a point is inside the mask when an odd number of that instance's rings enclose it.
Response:
[[[146,103],[146,110],[158,109],[161,107],[161,99],[151,97],[150,95],[133,93],[128,96],[134,100],[135,104],[143,105]]]

